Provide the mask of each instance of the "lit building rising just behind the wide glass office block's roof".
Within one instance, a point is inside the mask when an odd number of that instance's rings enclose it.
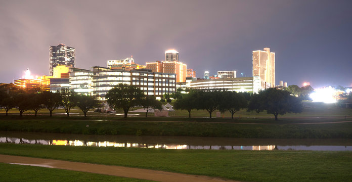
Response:
[[[122,70],[134,70],[134,69],[145,69],[146,66],[135,63],[133,58],[126,58],[124,60],[108,60],[108,68],[110,69],[122,69]]]

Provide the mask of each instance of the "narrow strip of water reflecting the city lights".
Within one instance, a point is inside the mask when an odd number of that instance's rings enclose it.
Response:
[[[82,140],[28,140],[24,138],[0,137],[0,143],[89,146],[89,147],[122,147],[122,148],[155,148],[155,149],[205,149],[205,150],[314,150],[314,151],[352,151],[352,146],[230,146],[230,145],[186,145],[186,144],[144,144],[119,142],[87,142]]]

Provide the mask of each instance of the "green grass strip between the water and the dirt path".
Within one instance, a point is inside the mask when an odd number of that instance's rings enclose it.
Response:
[[[0,144],[0,153],[242,181],[349,181],[352,152],[94,148]]]

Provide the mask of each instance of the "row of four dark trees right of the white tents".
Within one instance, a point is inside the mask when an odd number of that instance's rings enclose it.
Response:
[[[278,119],[279,114],[302,111],[300,98],[292,96],[287,90],[277,88],[262,90],[253,95],[221,90],[190,90],[189,94],[183,95],[175,102],[174,107],[187,110],[189,117],[194,109],[206,110],[210,118],[215,110],[229,111],[231,118],[244,108],[247,108],[247,111],[256,112],[266,110],[268,114],[274,114],[275,120]]]

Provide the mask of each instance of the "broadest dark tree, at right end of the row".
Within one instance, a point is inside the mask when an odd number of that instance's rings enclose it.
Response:
[[[302,104],[299,98],[291,96],[286,90],[268,88],[252,96],[248,111],[253,110],[257,113],[267,110],[268,114],[274,114],[275,120],[278,120],[279,114],[302,112]]]

